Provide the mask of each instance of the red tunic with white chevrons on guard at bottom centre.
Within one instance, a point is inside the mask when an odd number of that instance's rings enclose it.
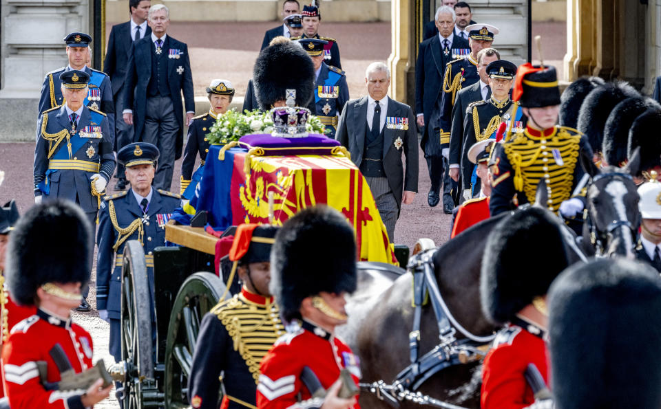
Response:
[[[282,335],[266,354],[257,386],[260,409],[319,408],[300,379],[304,366],[311,368],[325,389],[330,388],[341,368],[347,368],[358,384],[360,364],[348,345],[310,322],[302,329]],[[300,399],[299,395],[300,394]],[[359,404],[353,406],[360,409]]]

